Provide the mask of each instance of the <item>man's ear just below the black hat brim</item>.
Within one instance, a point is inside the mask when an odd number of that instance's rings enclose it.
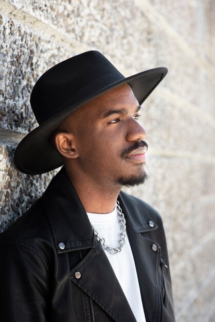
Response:
[[[66,158],[75,159],[78,153],[75,145],[74,135],[67,132],[55,134],[55,146],[58,152]]]

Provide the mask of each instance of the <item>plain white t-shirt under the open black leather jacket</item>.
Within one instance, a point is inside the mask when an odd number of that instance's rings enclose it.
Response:
[[[116,207],[110,213],[87,212],[87,216],[98,231],[99,236],[105,239],[105,244],[116,248],[119,244],[121,232]],[[127,234],[121,252],[116,255],[112,255],[108,251],[104,251],[104,253],[113,267],[137,322],[146,322],[136,267]]]

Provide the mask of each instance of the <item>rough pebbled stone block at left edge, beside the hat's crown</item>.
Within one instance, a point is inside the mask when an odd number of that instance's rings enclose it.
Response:
[[[0,128],[29,132],[37,126],[29,101],[35,81],[73,53],[6,16],[0,23]]]

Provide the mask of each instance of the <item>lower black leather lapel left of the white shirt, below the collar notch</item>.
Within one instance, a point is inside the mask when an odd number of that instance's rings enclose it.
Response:
[[[75,272],[80,272],[77,279]],[[112,266],[95,235],[93,249],[70,272],[71,280],[106,311],[115,321],[136,322]]]

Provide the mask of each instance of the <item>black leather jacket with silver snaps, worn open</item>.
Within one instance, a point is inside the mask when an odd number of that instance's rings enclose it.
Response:
[[[173,322],[162,220],[133,196],[120,192],[118,200],[126,217],[146,320]],[[42,198],[0,235],[0,246],[2,322],[136,321],[64,169]]]

